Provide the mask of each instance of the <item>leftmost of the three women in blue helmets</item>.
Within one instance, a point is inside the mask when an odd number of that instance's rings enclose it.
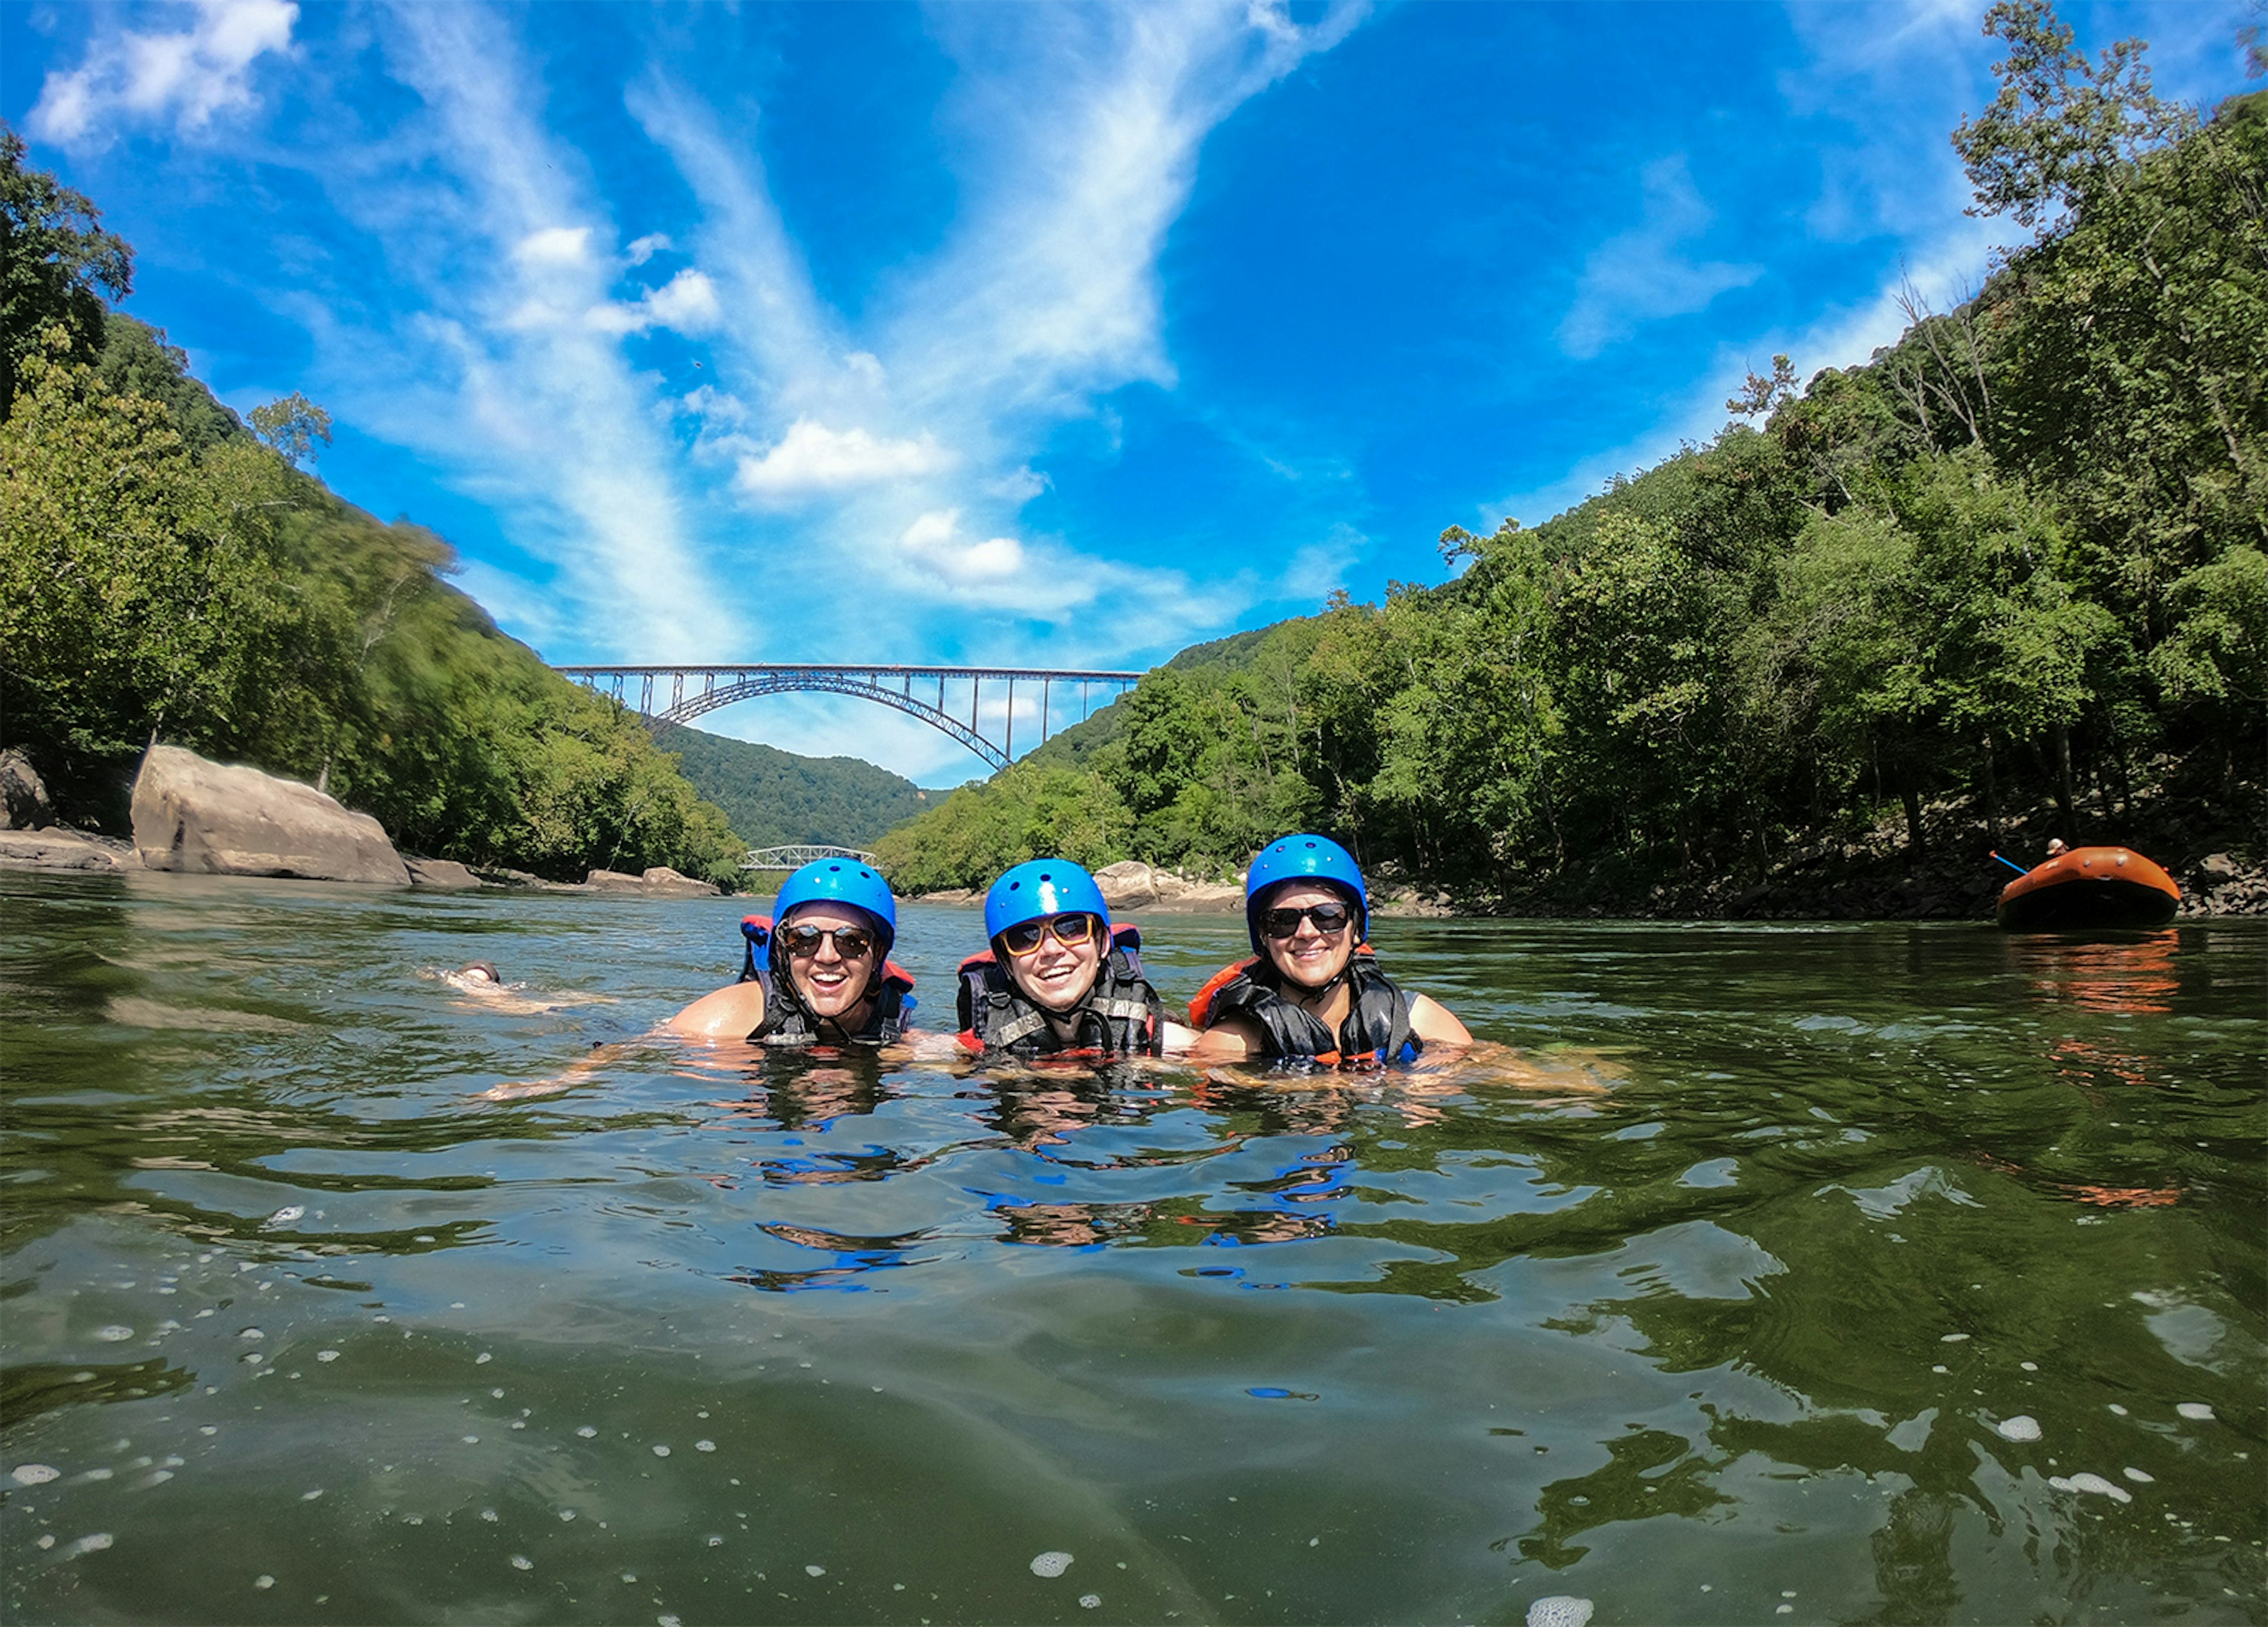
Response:
[[[703,994],[669,1019],[669,1032],[769,1046],[880,1046],[905,1032],[914,980],[889,962],[898,903],[869,865],[805,865],[780,883],[771,914],[751,914],[739,930],[739,983]]]

